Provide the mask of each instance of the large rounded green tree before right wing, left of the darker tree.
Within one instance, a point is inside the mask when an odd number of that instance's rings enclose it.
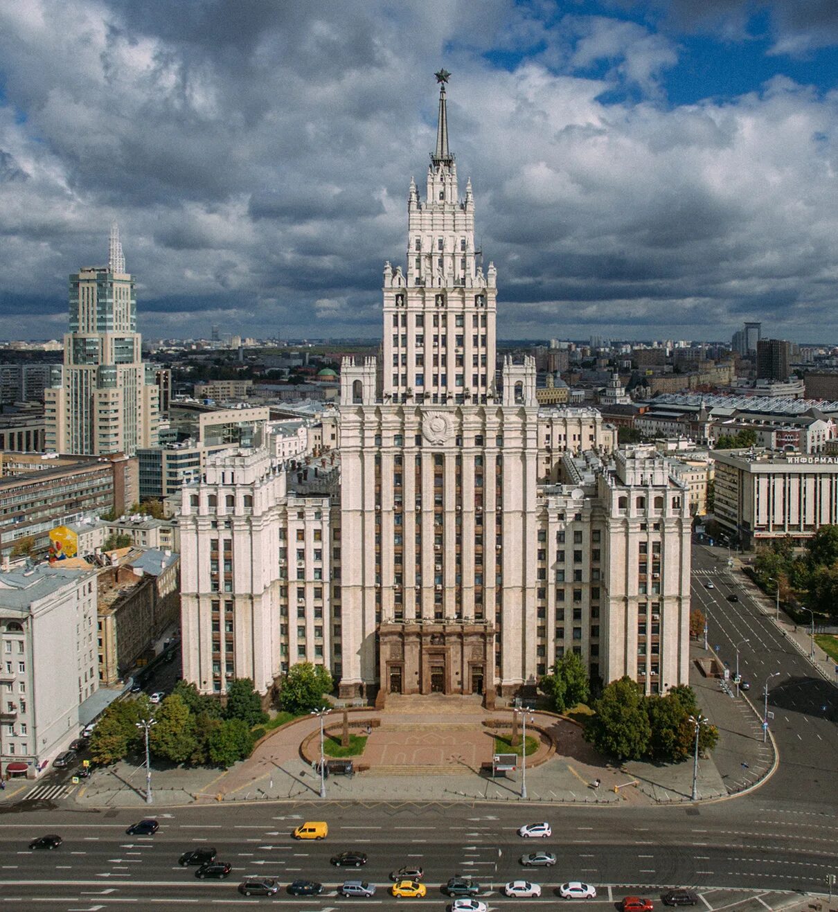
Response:
[[[595,701],[595,715],[585,727],[585,739],[617,760],[646,756],[652,737],[643,689],[625,676],[612,681]]]

